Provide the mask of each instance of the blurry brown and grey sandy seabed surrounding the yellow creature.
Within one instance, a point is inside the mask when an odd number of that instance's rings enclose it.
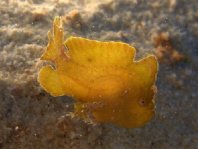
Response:
[[[156,114],[142,128],[68,116],[37,82],[55,16],[65,36],[122,41],[159,60]],[[0,149],[198,149],[197,0],[1,0]]]

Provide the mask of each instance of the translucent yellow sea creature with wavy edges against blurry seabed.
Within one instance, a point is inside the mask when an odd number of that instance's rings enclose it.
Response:
[[[122,42],[81,37],[64,40],[55,17],[41,60],[51,61],[38,74],[52,96],[71,96],[75,116],[125,128],[141,127],[155,113],[158,62],[154,55],[134,60],[135,48]]]

